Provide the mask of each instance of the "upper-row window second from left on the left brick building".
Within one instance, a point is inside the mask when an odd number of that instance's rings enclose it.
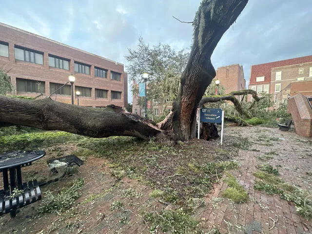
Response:
[[[43,53],[15,45],[15,59],[34,64],[43,64]]]

